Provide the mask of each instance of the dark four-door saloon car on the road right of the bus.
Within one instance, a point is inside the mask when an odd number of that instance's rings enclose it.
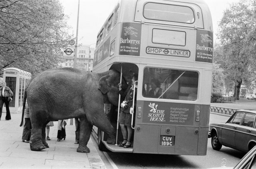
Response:
[[[222,145],[248,152],[256,145],[256,110],[237,110],[226,123],[212,123],[208,138],[212,148]]]

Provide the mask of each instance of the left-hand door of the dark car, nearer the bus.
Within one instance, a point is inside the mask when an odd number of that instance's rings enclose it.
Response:
[[[236,112],[222,128],[222,143],[228,147],[235,147],[236,128],[240,125],[244,112]]]

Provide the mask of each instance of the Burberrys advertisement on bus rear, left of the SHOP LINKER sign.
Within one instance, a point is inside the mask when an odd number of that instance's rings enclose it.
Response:
[[[122,23],[119,55],[140,56],[141,24]]]

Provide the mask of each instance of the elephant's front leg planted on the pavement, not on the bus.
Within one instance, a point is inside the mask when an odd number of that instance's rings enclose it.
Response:
[[[92,132],[92,124],[88,122],[86,117],[80,118],[79,146],[76,149],[80,153],[90,153],[87,143]]]

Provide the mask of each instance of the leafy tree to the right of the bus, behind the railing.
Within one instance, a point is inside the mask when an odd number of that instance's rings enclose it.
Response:
[[[235,84],[234,97],[237,99],[241,84],[250,86],[251,77],[255,76],[255,7],[254,0],[240,0],[224,12],[219,24],[222,67],[226,80]]]

